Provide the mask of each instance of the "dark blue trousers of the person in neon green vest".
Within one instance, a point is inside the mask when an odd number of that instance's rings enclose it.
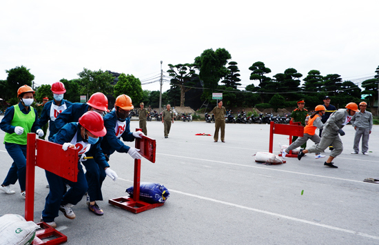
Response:
[[[4,179],[3,186],[15,184],[17,179],[19,179],[21,191],[24,191],[26,179],[26,145],[6,142],[6,150],[10,157],[12,157],[13,163],[6,179]]]

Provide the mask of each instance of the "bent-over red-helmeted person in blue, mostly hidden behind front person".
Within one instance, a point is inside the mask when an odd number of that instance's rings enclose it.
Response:
[[[99,112],[101,115],[105,111],[109,112],[108,99],[102,92],[95,92],[87,101],[87,104],[73,103],[72,106],[61,112],[55,119],[57,130],[65,126],[65,124],[77,122],[79,117],[90,110]]]

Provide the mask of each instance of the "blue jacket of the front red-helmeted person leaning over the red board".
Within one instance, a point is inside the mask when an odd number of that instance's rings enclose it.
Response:
[[[76,141],[83,141],[83,138],[81,137],[81,125],[74,122],[63,126],[63,128],[61,128],[61,130],[59,130],[58,133],[52,137],[51,141],[61,145],[64,143],[70,143],[72,141],[72,138],[74,138],[76,132],[78,133],[76,136]],[[101,150],[100,145],[101,137],[99,137],[99,141],[97,141],[96,144],[91,145],[90,150],[88,153],[85,153],[85,155],[92,155],[99,166],[107,168],[109,167],[109,164],[105,160],[105,156],[103,150]]]

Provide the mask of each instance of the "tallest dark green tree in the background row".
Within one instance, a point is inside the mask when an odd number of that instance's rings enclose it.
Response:
[[[216,51],[209,48],[195,58],[195,64],[200,68],[199,76],[205,88],[202,99],[211,99],[212,92],[218,86],[218,81],[227,75],[225,65],[228,59],[232,59],[232,56],[225,48],[218,48]]]

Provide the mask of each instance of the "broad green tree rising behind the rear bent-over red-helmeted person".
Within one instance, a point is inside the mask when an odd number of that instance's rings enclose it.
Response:
[[[88,95],[88,98],[95,92],[102,92],[104,95],[112,95],[113,92],[113,75],[103,70],[88,70],[83,68],[78,73],[81,78],[81,95]]]

